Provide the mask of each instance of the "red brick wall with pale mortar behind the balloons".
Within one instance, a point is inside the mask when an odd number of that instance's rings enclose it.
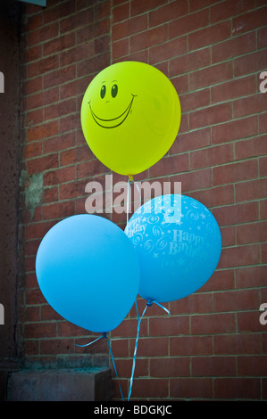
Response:
[[[26,366],[106,365],[100,341],[46,304],[35,276],[38,244],[60,219],[85,212],[85,185],[110,174],[79,122],[90,80],[110,63],[147,62],[179,94],[170,152],[138,180],[180,181],[221,226],[212,278],[193,295],[147,309],[132,399],[266,399],[266,4],[263,0],[47,0],[28,5],[22,33],[21,354]],[[113,182],[126,180],[113,174]],[[104,215],[125,226],[125,214]],[[24,258],[23,258],[24,256]],[[144,300],[138,300],[141,311]],[[112,333],[124,394],[136,310]],[[120,398],[118,389],[114,398]]]

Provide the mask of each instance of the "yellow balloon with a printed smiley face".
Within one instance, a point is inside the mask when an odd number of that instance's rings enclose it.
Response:
[[[171,148],[179,131],[179,97],[162,71],[144,62],[117,62],[89,84],[80,119],[97,159],[116,173],[135,175]]]

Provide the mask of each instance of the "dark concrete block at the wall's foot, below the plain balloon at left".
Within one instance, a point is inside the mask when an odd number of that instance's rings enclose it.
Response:
[[[108,401],[113,395],[109,368],[21,370],[11,374],[9,401]]]

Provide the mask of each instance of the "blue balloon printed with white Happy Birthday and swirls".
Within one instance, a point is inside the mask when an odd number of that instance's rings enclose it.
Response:
[[[145,300],[179,300],[196,292],[221,256],[221,232],[213,214],[188,196],[157,196],[129,219],[125,233],[140,262],[138,294]]]

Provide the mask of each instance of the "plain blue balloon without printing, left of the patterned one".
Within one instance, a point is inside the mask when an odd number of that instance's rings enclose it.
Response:
[[[119,226],[82,214],[53,226],[39,245],[36,274],[54,310],[74,325],[110,332],[134,304],[138,256]]]

